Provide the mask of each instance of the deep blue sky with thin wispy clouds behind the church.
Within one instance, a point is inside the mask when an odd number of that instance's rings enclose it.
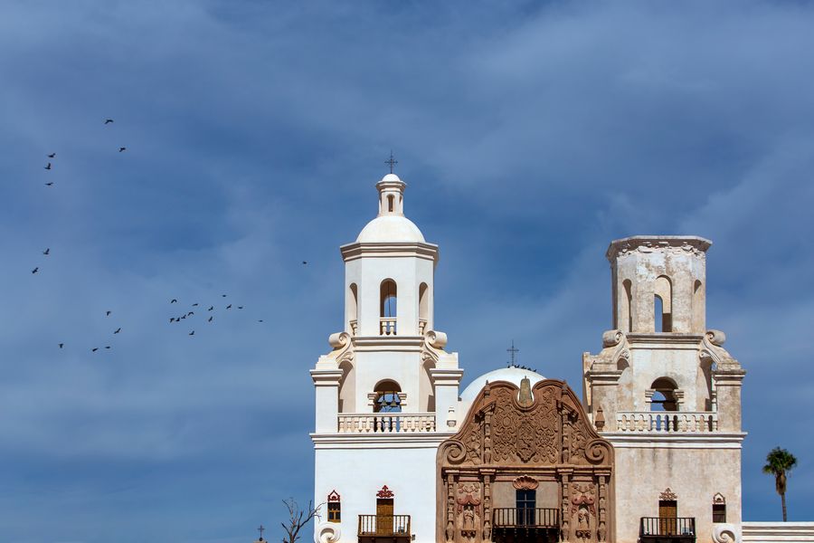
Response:
[[[708,323],[749,372],[744,516],[780,518],[781,445],[810,519],[812,24],[800,2],[6,0],[0,538],[238,543],[307,501],[308,368],[391,148],[465,382],[514,339],[578,386],[611,239],[712,239]]]

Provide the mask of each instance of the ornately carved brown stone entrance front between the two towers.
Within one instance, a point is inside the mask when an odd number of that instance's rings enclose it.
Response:
[[[498,381],[437,457],[438,543],[611,542],[613,448],[564,381]]]

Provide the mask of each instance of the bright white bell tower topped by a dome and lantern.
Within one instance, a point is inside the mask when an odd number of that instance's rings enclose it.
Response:
[[[358,541],[382,530],[435,540],[436,453],[457,430],[463,370],[458,354],[443,350],[446,335],[433,329],[438,246],[404,216],[405,187],[384,176],[377,216],[341,247],[343,331],[310,372],[314,502],[327,502],[318,541]],[[376,525],[379,517],[393,525]]]

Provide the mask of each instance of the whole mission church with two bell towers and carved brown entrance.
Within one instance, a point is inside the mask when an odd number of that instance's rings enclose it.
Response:
[[[460,390],[433,320],[439,249],[405,186],[384,176],[342,246],[344,326],[310,370],[315,541],[741,540],[745,372],[705,326],[711,243],[611,243],[613,321],[579,394],[520,367]]]

